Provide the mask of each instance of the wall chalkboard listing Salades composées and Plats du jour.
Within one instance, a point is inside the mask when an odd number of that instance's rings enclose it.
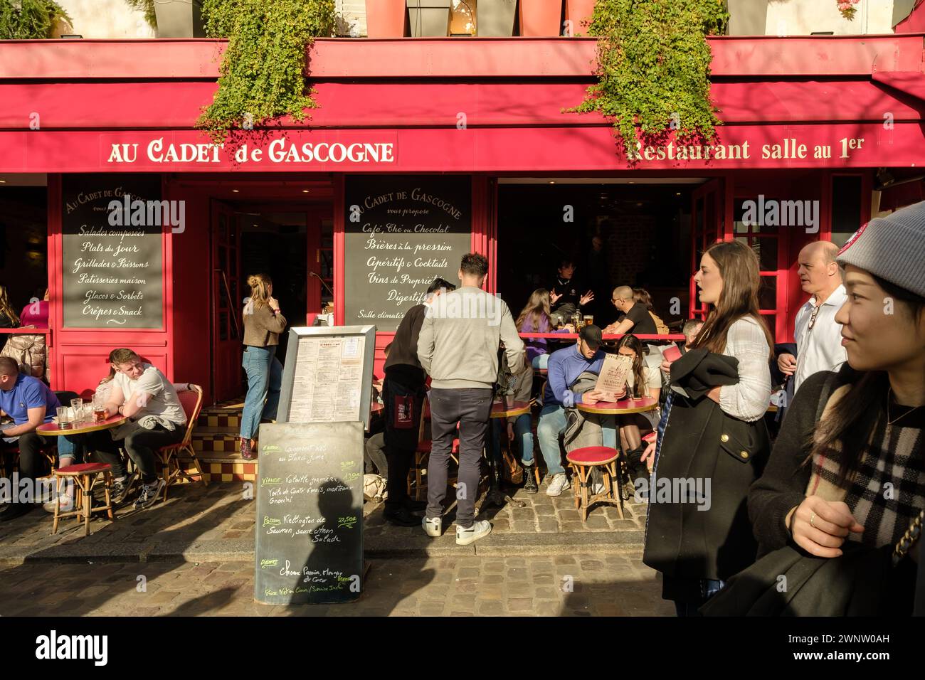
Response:
[[[163,328],[160,197],[159,176],[64,176],[65,328]]]

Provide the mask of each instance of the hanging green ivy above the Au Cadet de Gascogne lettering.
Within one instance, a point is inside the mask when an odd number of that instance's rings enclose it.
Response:
[[[215,98],[196,122],[214,142],[279,116],[302,121],[317,107],[305,54],[333,33],[334,0],[203,0],[203,17],[208,36],[228,38]]]

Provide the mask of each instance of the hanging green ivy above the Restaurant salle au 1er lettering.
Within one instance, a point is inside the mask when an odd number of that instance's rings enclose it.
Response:
[[[598,38],[598,82],[568,110],[609,117],[624,152],[672,131],[679,142],[715,138],[707,36],[724,34],[728,21],[724,0],[598,0],[588,29]]]

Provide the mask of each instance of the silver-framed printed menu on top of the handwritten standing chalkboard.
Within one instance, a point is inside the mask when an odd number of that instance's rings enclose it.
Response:
[[[290,328],[277,423],[369,427],[375,326]]]

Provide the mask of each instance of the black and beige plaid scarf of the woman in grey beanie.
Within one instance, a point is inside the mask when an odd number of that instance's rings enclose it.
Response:
[[[849,388],[843,385],[833,392],[820,421],[831,414]],[[841,446],[836,442],[828,451],[813,454],[806,494],[845,501],[857,523],[864,526],[862,533],[849,534],[848,540],[872,547],[894,545],[925,508],[925,409],[888,425],[885,406],[884,401],[857,472],[838,486]]]

